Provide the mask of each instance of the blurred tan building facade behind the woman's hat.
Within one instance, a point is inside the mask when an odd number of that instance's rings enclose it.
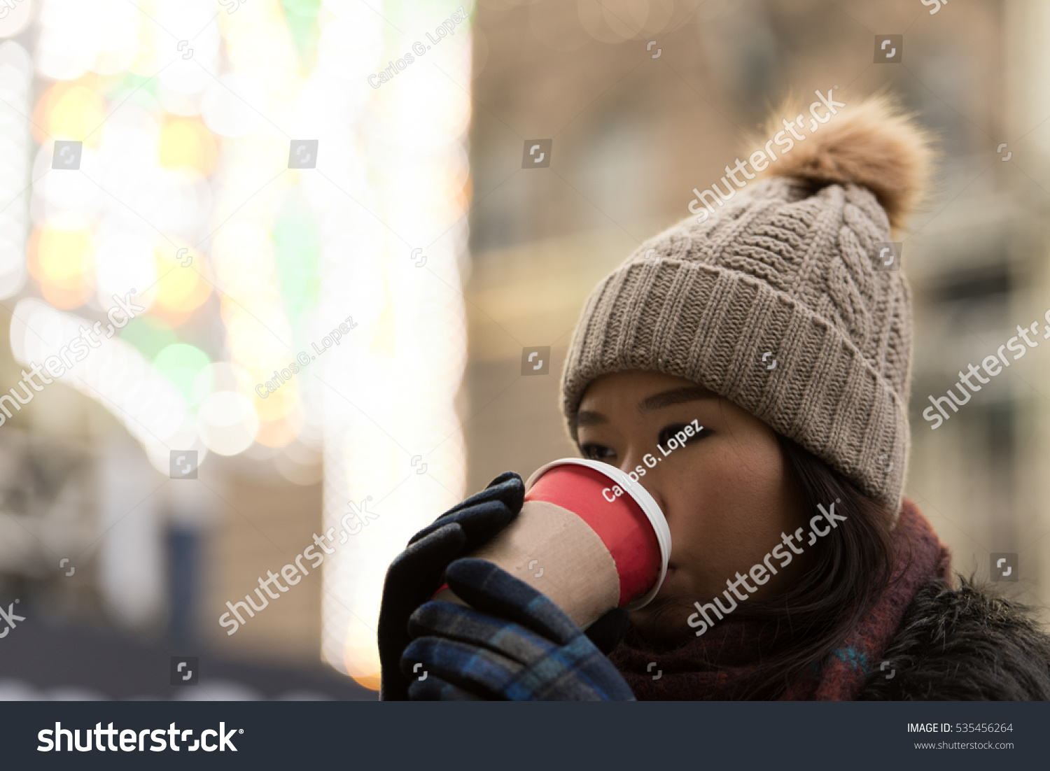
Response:
[[[941,150],[930,200],[903,236],[916,319],[905,494],[960,573],[989,580],[990,555],[1016,553],[1021,580],[995,586],[1050,621],[1050,348],[941,428],[922,417],[928,394],[943,395],[1017,324],[1038,320],[1042,343],[1045,4],[483,2],[480,28],[468,487],[574,454],[558,378],[584,300],[642,240],[688,215],[694,187],[751,152],[744,137],[769,111],[789,93],[837,85],[849,102],[888,88]],[[882,34],[904,36],[901,63],[876,63]],[[533,137],[553,140],[550,168],[520,168],[518,148]],[[523,377],[522,348],[547,345],[549,374]]]

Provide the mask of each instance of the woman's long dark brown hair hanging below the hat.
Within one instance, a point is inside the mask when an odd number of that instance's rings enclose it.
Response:
[[[842,474],[785,436],[777,442],[791,469],[802,510],[835,502],[846,521],[817,540],[806,573],[776,598],[740,606],[738,618],[764,620],[768,640],[742,699],[776,699],[806,671],[819,671],[872,607],[892,574],[895,512],[864,495]]]

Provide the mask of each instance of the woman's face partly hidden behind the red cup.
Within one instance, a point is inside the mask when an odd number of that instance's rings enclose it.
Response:
[[[668,441],[687,425],[702,430],[665,456]],[[694,600],[721,594],[737,573],[747,576],[761,564],[782,543],[782,534],[806,527],[772,429],[692,381],[651,371],[603,376],[584,393],[576,428],[585,457],[623,471],[642,466],[646,474],[639,481],[667,517],[672,543],[667,578],[656,599],[631,614],[647,638],[665,643],[691,638],[686,620],[695,612]],[[647,468],[647,454],[658,458],[653,468]],[[806,557],[796,557],[763,585],[747,579],[757,592],[742,583],[737,591],[764,599],[804,571]]]

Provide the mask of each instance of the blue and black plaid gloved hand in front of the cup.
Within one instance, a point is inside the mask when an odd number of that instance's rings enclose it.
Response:
[[[546,595],[481,559],[456,560],[445,580],[470,607],[434,600],[412,614],[416,639],[401,659],[411,699],[634,700],[612,662]],[[594,625],[622,633],[626,618],[614,611]]]

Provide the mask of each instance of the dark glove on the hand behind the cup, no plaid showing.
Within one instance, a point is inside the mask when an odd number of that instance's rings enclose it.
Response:
[[[525,485],[512,471],[505,471],[488,487],[449,509],[419,531],[386,570],[379,608],[379,662],[382,681],[379,698],[408,699],[410,679],[398,662],[408,636],[408,616],[426,602],[442,583],[445,566],[495,538],[522,509]],[[411,680],[415,680],[412,677]]]

